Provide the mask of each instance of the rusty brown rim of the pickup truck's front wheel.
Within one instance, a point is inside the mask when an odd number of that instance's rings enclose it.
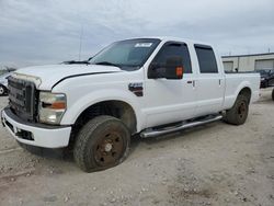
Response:
[[[122,158],[123,150],[123,137],[115,131],[110,131],[102,135],[95,144],[94,158],[101,167],[114,165]]]

